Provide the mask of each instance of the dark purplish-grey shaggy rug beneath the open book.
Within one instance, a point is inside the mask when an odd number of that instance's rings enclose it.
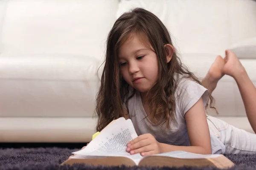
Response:
[[[86,164],[73,166],[60,164],[65,161],[73,151],[79,149],[67,148],[21,148],[0,149],[0,170],[157,170],[157,167],[93,167]],[[236,166],[230,170],[256,169],[256,155],[226,155]],[[217,170],[212,167],[195,168],[163,167],[161,170]]]

